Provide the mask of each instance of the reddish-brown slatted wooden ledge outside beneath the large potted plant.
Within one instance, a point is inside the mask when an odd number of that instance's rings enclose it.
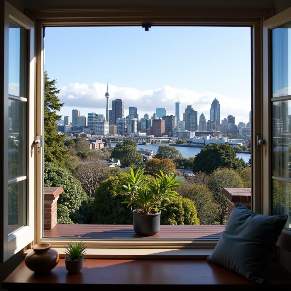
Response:
[[[137,235],[132,225],[57,224],[44,230],[44,237],[82,239],[219,239],[224,225],[161,225],[152,236]]]

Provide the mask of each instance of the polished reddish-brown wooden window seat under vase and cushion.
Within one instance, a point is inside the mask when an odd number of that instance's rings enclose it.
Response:
[[[276,285],[291,287],[290,273],[277,260],[269,268],[265,285],[259,286],[229,271],[210,264],[206,260],[112,260],[87,259],[83,269],[77,274],[68,274],[65,260],[48,274],[36,275],[24,261],[3,281],[2,287],[8,290],[29,288],[36,290],[96,290],[96,287],[129,287],[137,285],[207,286],[215,290],[266,290]],[[210,287],[210,286],[209,286]],[[70,289],[68,289],[70,288]],[[287,289],[286,289],[287,290]]]

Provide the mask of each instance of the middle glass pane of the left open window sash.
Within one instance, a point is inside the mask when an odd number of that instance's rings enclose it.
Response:
[[[26,175],[26,102],[9,100],[8,179]]]

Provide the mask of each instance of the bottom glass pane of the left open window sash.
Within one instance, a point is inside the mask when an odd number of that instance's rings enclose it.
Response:
[[[26,225],[26,180],[8,185],[8,235]]]

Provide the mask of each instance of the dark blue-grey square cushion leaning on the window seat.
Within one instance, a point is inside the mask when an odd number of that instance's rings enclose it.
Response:
[[[287,215],[262,215],[238,203],[207,261],[262,284]]]

